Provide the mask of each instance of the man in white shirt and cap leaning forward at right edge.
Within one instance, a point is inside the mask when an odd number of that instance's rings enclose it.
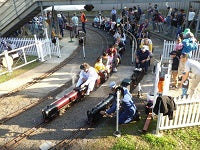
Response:
[[[180,87],[182,87],[185,80],[188,79],[189,75],[192,75],[189,86],[189,96],[200,97],[200,63],[198,61],[188,58],[188,54],[181,55],[181,62],[185,64],[184,72],[182,76]]]

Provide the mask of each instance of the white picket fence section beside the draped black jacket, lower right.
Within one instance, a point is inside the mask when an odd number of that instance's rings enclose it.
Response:
[[[200,99],[199,98],[175,98],[176,110],[173,119],[158,114],[156,133],[161,130],[183,128],[200,125]]]

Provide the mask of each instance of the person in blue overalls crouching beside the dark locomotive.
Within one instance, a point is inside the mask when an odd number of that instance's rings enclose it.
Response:
[[[117,87],[116,83],[113,81],[110,83],[109,87],[111,91],[114,93],[115,98],[117,98],[117,91],[120,91],[122,99],[120,99],[120,111],[119,111],[119,124],[126,124],[131,121],[140,120],[137,108],[132,99],[132,95],[125,87]],[[116,100],[113,102],[110,109],[106,111],[100,111],[101,115],[111,116],[117,108]]]

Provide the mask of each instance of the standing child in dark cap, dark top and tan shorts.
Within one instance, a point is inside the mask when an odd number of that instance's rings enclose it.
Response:
[[[178,66],[179,66],[179,57],[177,51],[171,51],[170,57],[172,58],[172,87],[178,87]]]

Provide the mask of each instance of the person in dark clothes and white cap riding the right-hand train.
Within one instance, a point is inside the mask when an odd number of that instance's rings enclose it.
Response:
[[[136,68],[144,68],[145,74],[147,73],[150,60],[150,52],[148,46],[144,45],[136,53]]]

